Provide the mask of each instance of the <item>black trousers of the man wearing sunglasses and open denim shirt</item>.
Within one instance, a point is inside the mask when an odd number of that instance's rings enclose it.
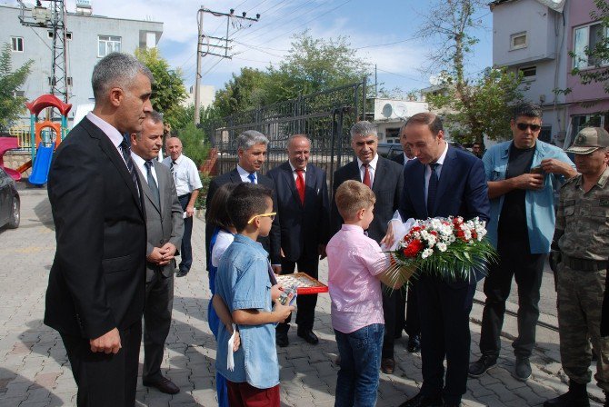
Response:
[[[484,312],[480,352],[498,356],[505,301],[510,295],[512,277],[518,285],[518,338],[512,343],[516,356],[531,356],[535,328],[539,320],[539,289],[542,285],[546,253],[532,254],[528,239],[502,239],[497,244],[499,262],[491,264],[484,280]]]

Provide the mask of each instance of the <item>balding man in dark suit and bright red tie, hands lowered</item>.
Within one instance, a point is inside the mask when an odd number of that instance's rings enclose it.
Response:
[[[320,256],[325,257],[328,243],[330,203],[325,172],[308,164],[311,140],[304,134],[290,137],[287,143],[288,161],[268,172],[275,181],[277,216],[281,224],[281,273],[298,271],[317,278]],[[297,334],[311,344],[319,342],[313,333],[317,294],[296,298]],[[290,317],[277,324],[276,340],[279,346],[287,346]]]

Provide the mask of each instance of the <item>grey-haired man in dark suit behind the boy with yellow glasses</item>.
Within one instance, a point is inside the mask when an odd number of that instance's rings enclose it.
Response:
[[[215,192],[224,184],[251,183],[261,184],[273,191],[273,211],[277,211],[277,198],[275,194],[275,182],[260,174],[260,170],[265,164],[266,148],[268,139],[265,134],[255,130],[246,130],[237,136],[237,154],[239,162],[236,168],[228,173],[216,176],[209,184],[205,207],[209,207]],[[209,253],[209,242],[214,234],[214,227],[205,225],[205,255],[206,259],[211,258]],[[262,243],[265,251],[271,257],[273,271],[281,273],[281,232],[279,230],[279,217],[276,216],[268,237],[259,237],[258,242]]]

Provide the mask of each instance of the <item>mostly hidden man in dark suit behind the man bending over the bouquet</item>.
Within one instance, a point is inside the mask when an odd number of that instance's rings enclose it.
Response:
[[[411,160],[416,160],[413,150],[408,143],[406,143],[405,128],[406,124],[404,123],[400,129],[400,144],[402,144],[404,153],[394,157],[394,162],[403,166],[408,164]],[[419,308],[417,306],[414,285],[414,281],[408,283],[408,308],[405,310],[405,315],[404,292],[398,297],[396,302],[397,318],[395,323],[395,337],[399,338],[402,336],[402,329],[408,333],[408,345],[406,346],[406,349],[411,353],[419,352],[421,350],[421,319],[419,318]]]

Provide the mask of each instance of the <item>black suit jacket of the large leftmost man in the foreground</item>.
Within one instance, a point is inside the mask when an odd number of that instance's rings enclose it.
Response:
[[[56,252],[45,324],[97,338],[142,320],[145,209],[123,157],[88,119],[55,152],[48,179]]]

